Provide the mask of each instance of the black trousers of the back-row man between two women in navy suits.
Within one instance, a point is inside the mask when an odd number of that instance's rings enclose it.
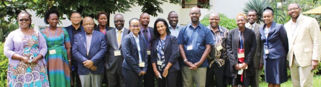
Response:
[[[148,55],[147,71],[144,75],[144,87],[155,87],[155,73],[151,63],[151,56]]]

